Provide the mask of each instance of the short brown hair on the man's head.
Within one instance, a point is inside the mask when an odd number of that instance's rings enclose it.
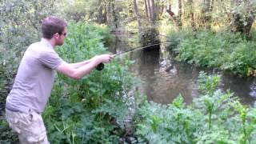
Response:
[[[66,22],[60,18],[50,16],[42,21],[42,37],[53,38],[55,33],[62,34],[62,31],[67,26]]]

